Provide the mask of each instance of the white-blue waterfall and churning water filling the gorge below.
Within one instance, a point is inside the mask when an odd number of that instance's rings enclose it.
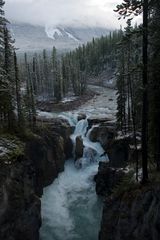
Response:
[[[99,143],[89,140],[87,119],[76,123],[76,116],[65,118],[75,125],[72,141],[82,137],[84,153],[76,164],[74,159],[66,161],[65,171],[44,190],[41,240],[97,240],[102,202],[95,193],[93,178],[98,162],[108,158],[101,157],[104,150]]]

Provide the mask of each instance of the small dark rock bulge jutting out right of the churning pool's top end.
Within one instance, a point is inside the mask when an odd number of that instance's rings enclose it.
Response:
[[[108,163],[100,162],[98,173],[94,178],[96,193],[100,196],[109,196],[113,188],[123,179],[124,175],[123,170],[111,168]]]

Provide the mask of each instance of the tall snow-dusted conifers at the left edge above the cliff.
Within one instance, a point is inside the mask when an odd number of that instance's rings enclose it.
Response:
[[[7,29],[3,6],[4,1],[0,1],[0,131],[11,132],[17,126],[23,127],[24,118],[14,41]]]

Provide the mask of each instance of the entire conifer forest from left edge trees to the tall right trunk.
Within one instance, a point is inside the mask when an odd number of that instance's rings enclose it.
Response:
[[[124,0],[117,6],[129,17],[122,31],[93,39],[59,56],[53,47],[17,63],[14,41],[0,0],[0,131],[23,129],[36,124],[36,101],[60,101],[82,95],[88,78],[103,70],[117,77],[117,127],[125,135],[142,135],[143,182],[148,180],[148,161],[160,170],[160,2]],[[143,12],[143,24],[133,27],[132,16]],[[140,163],[136,158],[137,176]]]

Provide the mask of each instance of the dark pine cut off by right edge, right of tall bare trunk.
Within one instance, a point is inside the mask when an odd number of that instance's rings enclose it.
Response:
[[[160,171],[160,2],[154,1],[152,5],[151,19],[151,69],[149,100],[150,106],[150,147],[151,154],[157,165],[157,170]]]

